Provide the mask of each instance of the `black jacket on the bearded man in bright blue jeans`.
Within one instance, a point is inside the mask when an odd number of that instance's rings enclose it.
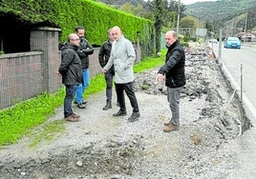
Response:
[[[94,53],[94,48],[90,45],[88,40],[84,37],[80,37],[80,46],[77,50],[77,54],[82,62],[82,69],[89,68],[89,55]]]

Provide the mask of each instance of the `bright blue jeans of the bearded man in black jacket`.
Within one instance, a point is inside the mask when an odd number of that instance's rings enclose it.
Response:
[[[76,89],[75,102],[81,104],[83,102],[83,93],[90,84],[90,71],[89,69],[83,70],[83,84],[80,84]]]

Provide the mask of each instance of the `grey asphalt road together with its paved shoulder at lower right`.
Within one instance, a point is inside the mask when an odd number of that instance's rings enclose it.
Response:
[[[231,83],[233,83],[235,89],[240,90],[238,91],[240,93],[241,84],[243,84],[244,107],[253,126],[232,141],[232,149],[239,153],[238,161],[241,166],[228,178],[254,179],[256,177],[256,63],[254,62],[256,43],[253,45],[242,44],[241,50],[224,49],[222,47],[221,52],[219,44],[210,44],[210,47],[220,57],[220,61],[224,65],[223,69],[228,73]]]

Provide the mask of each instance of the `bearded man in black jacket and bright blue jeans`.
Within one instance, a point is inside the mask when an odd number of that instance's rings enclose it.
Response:
[[[75,33],[80,38],[79,49],[77,54],[82,63],[83,70],[83,83],[76,89],[75,104],[79,109],[85,109],[86,102],[83,100],[83,93],[90,84],[90,71],[89,71],[89,55],[94,53],[94,48],[89,41],[84,38],[84,28],[78,26],[75,28]]]

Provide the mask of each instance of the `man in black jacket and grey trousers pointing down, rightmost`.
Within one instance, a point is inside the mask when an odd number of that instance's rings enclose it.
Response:
[[[165,123],[164,132],[179,129],[180,127],[180,94],[185,85],[185,54],[181,47],[175,31],[165,33],[165,43],[168,51],[165,56],[165,65],[160,68],[157,80],[162,82],[165,75],[165,86],[167,87],[167,99],[172,111],[172,118]]]

